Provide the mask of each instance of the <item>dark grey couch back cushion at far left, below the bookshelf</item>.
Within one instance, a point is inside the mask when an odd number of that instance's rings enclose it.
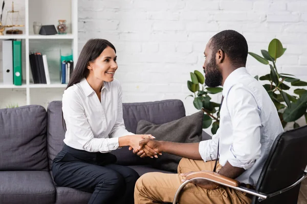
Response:
[[[45,108],[1,109],[0,130],[0,170],[48,170]]]

